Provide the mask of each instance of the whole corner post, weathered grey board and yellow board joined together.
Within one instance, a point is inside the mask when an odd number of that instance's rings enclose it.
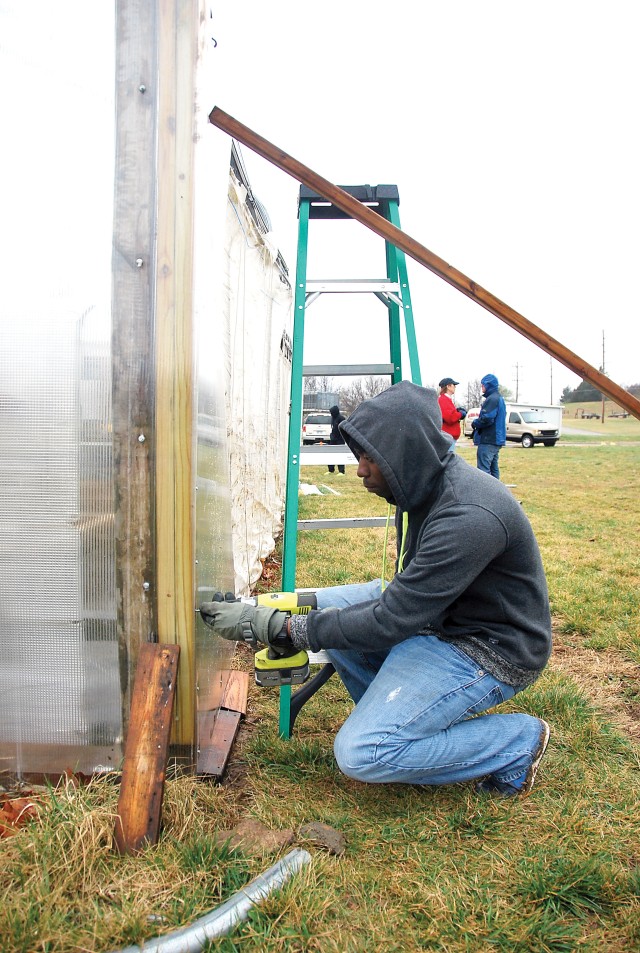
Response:
[[[113,442],[122,711],[139,647],[182,650],[195,746],[193,160],[200,0],[117,0]]]

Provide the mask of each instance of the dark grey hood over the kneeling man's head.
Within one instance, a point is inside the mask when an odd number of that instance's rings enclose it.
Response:
[[[366,453],[380,468],[393,495],[389,502],[410,512],[426,502],[454,459],[441,426],[435,391],[400,381],[363,401],[340,430],[354,456]]]

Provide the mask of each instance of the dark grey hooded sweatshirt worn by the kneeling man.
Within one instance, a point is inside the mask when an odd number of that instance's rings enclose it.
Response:
[[[408,381],[341,424],[382,471],[396,505],[402,572],[379,599],[292,617],[312,651],[381,651],[423,634],[458,645],[496,678],[530,685],[551,653],[547,584],[522,507],[499,480],[449,452],[434,391]]]

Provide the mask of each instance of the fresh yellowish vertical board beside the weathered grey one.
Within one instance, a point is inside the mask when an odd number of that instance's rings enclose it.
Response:
[[[173,740],[194,745],[193,166],[198,0],[159,0],[156,534],[158,639],[181,648]]]

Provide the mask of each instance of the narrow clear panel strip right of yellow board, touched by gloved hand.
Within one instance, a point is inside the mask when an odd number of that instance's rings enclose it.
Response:
[[[209,51],[211,53],[211,50]],[[206,65],[203,63],[203,65]],[[205,83],[206,69],[200,76]],[[225,391],[232,386],[225,365],[228,309],[224,262],[230,144],[209,123],[210,83],[197,97],[200,136],[195,154],[194,234],[195,416],[195,669],[196,707],[215,710],[226,685],[234,643],[208,629],[198,608],[216,589],[233,589],[233,527]]]

